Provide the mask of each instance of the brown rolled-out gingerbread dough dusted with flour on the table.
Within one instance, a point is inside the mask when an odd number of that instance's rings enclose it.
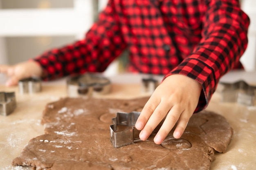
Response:
[[[63,98],[47,104],[45,135],[29,141],[14,166],[36,170],[209,170],[214,153],[225,152],[233,134],[216,113],[194,114],[180,139],[172,132],[161,145],[147,141],[115,148],[110,141],[116,113],[140,111],[147,97],[130,100]]]

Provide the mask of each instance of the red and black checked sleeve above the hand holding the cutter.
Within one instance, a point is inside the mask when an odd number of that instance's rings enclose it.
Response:
[[[195,112],[206,108],[220,77],[239,63],[248,41],[249,18],[238,0],[206,0],[206,6],[202,40],[189,57],[166,75],[182,74],[202,84]]]

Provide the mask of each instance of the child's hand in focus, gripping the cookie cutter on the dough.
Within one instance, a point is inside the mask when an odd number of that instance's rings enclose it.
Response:
[[[180,138],[198,105],[201,90],[200,83],[184,75],[166,77],[141,110],[135,125],[141,130],[139,138],[148,139],[164,117],[166,119],[154,138],[155,143],[161,144],[176,122],[173,137]]]

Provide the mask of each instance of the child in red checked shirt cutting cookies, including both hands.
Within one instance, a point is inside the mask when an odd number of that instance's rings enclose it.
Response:
[[[136,123],[144,141],[166,117],[154,138],[161,144],[176,123],[173,136],[180,138],[220,77],[242,68],[248,26],[238,0],[109,0],[84,40],[0,72],[10,76],[8,86],[31,75],[51,80],[102,72],[128,49],[129,71],[165,75]]]

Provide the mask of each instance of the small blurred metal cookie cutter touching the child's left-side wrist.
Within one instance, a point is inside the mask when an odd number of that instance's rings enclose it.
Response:
[[[42,89],[41,79],[36,77],[29,77],[19,81],[19,91],[24,93],[37,93]]]

